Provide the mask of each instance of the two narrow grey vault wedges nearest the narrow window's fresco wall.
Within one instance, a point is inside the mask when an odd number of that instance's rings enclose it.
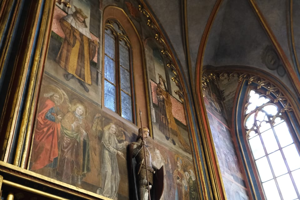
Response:
[[[213,6],[216,3],[215,0],[188,0],[186,1],[187,10],[187,44],[184,41],[184,26],[182,16],[182,1],[170,1],[170,0],[147,0],[147,3],[154,13],[156,20],[161,25],[161,28],[167,35],[171,47],[175,51],[180,65],[183,68],[185,77],[190,79],[187,58],[185,49],[189,47],[190,59],[191,59],[191,74],[195,74],[197,55],[199,45],[202,39],[202,34],[207,24],[210,13]],[[188,45],[188,46],[186,46]],[[192,77],[191,80],[193,80]]]

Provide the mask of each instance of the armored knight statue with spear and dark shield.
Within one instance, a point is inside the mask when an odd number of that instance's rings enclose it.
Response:
[[[130,199],[160,199],[163,193],[163,167],[154,169],[149,149],[146,147],[149,129],[144,127],[138,131],[137,141],[130,144]],[[149,196],[150,193],[150,197]]]

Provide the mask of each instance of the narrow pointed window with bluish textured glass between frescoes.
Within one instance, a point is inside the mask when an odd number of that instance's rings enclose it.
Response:
[[[117,20],[104,31],[104,106],[135,123],[132,47]]]

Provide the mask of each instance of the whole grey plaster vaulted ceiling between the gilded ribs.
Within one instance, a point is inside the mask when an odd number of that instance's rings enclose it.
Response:
[[[288,53],[286,32],[286,1],[258,0],[271,30],[285,52]],[[191,73],[188,72],[184,42],[182,4],[180,0],[147,0],[160,28],[167,37],[167,43],[174,51],[175,57],[182,66],[186,80],[195,80],[195,69],[199,45],[208,18],[216,1],[187,1],[188,47],[190,51]],[[268,5],[271,5],[268,7]],[[272,12],[275,12],[272,13]],[[284,29],[284,30],[283,30]],[[274,48],[270,37],[263,28],[249,0],[223,0],[212,22],[204,49],[203,66],[251,66],[277,76],[292,88],[287,73],[279,76],[276,71],[267,68],[263,55],[267,47]],[[290,57],[290,56],[288,56]],[[280,59],[278,62],[282,62]],[[190,77],[192,75],[192,77]]]

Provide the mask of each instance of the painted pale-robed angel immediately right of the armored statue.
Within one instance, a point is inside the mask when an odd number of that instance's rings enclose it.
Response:
[[[171,162],[170,158],[166,155],[164,152],[164,155],[167,156],[167,161],[163,158],[163,155],[160,153],[158,149],[154,150],[156,160],[153,161],[153,166],[156,167],[157,169],[160,169],[163,166],[163,194],[162,197],[160,197],[160,200],[168,200],[168,192],[169,192],[169,184],[168,184],[168,173],[170,173],[171,170]],[[168,167],[167,167],[168,166]]]

